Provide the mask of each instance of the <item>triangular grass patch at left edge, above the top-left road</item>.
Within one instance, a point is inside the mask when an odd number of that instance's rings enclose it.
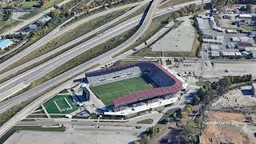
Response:
[[[0,34],[2,34],[6,30],[8,30],[8,29],[10,29],[14,26],[17,26],[21,22],[22,21],[17,21],[17,20],[12,20],[12,19],[9,19],[7,21],[3,21],[2,20],[2,14],[0,14]]]

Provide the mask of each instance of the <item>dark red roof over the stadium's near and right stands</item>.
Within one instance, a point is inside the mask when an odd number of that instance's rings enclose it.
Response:
[[[170,74],[162,66],[159,66],[158,64],[153,62],[144,62],[144,63],[148,63],[148,64],[152,63],[154,64],[154,66],[157,66],[160,70],[162,70],[166,75],[168,75],[170,78],[172,78],[175,81],[174,85],[154,88],[151,90],[142,90],[142,91],[139,91],[138,93],[127,94],[120,98],[115,98],[113,100],[114,106],[126,106],[127,104],[130,104],[130,103],[142,101],[148,98],[154,98],[161,95],[174,94],[174,93],[177,93],[179,90],[182,90],[182,82],[179,81],[178,78],[174,77],[173,74]]]

